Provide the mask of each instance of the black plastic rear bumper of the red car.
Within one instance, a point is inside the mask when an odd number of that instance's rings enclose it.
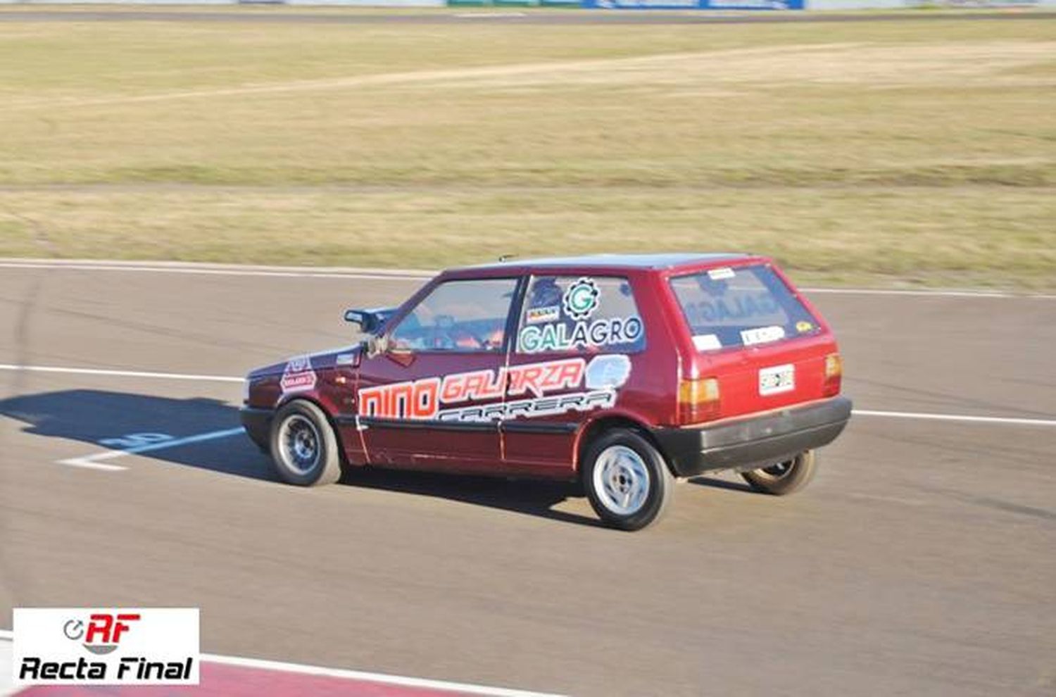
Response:
[[[756,469],[832,442],[847,426],[851,400],[832,397],[716,426],[652,429],[678,476]]]

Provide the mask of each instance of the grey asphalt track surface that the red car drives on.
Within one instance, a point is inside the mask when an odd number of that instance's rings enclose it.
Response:
[[[235,377],[418,282],[8,266],[0,363]],[[627,534],[559,485],[280,485],[238,435],[57,464],[232,429],[241,388],[0,371],[0,618],[200,606],[210,653],[574,695],[1052,695],[1056,300],[814,298],[857,408],[1050,425],[859,415],[800,494],[696,479]]]

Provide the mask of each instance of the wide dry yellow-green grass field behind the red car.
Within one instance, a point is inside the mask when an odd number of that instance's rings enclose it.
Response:
[[[0,256],[1051,289],[1054,88],[1045,19],[2,22]]]

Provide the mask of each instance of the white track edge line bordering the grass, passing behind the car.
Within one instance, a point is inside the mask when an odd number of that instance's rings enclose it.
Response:
[[[515,261],[515,260],[514,260]],[[438,269],[371,268],[342,266],[265,266],[215,264],[208,262],[122,261],[95,259],[17,259],[0,260],[0,268],[70,269],[80,271],[138,271],[144,274],[206,274],[214,276],[261,276],[271,278],[363,279],[378,281],[422,281]],[[973,289],[898,289],[898,288],[800,288],[804,293],[860,296],[917,296],[936,298],[1007,298],[1056,300],[1056,295],[1030,295]]]

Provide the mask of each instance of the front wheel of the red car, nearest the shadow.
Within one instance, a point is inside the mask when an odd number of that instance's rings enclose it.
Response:
[[[341,454],[326,414],[310,401],[295,399],[271,421],[271,461],[283,482],[300,487],[334,484],[341,477]]]

